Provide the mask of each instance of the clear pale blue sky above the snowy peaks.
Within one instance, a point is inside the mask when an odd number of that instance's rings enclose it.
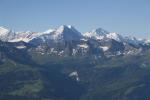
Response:
[[[0,0],[0,26],[45,31],[64,24],[150,38],[150,0]]]

